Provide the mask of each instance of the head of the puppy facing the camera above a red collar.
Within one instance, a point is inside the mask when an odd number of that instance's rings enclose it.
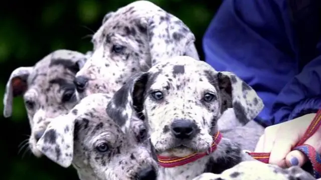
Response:
[[[127,88],[132,100],[112,102],[132,103],[137,116],[148,123],[156,151],[162,154],[205,151],[218,129],[217,119],[227,108],[233,108],[237,120],[246,124],[263,107],[256,92],[235,74],[215,71],[189,56],[163,60],[137,76],[128,82],[132,85],[119,89]],[[118,104],[118,109],[125,107]]]

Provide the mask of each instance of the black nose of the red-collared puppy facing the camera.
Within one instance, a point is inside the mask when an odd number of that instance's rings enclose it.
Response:
[[[172,122],[171,130],[177,138],[193,138],[196,135],[197,125],[191,120],[177,119]]]

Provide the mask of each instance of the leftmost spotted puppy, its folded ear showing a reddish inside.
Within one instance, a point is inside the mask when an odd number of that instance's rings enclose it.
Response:
[[[29,147],[36,156],[41,156],[36,142],[49,122],[45,119],[68,112],[77,103],[73,80],[89,55],[60,49],[34,66],[18,67],[11,73],[4,96],[4,116],[11,116],[13,98],[23,95],[31,126]]]

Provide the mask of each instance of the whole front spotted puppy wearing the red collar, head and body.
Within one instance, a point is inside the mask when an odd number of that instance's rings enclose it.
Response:
[[[145,120],[157,155],[169,157],[206,152],[220,128],[217,120],[227,108],[234,109],[241,124],[263,108],[256,92],[235,74],[218,72],[189,56],[164,59],[136,74],[115,93],[109,108],[126,114],[130,113],[128,104]],[[215,151],[185,165],[160,167],[159,179],[193,179],[203,172],[221,173],[243,160],[253,160],[239,143],[253,136],[250,129],[223,132]]]

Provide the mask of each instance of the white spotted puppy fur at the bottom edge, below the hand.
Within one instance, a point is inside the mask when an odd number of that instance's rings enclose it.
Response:
[[[193,180],[313,180],[310,173],[299,166],[281,168],[277,165],[265,164],[260,161],[243,161],[221,174],[203,173]]]

